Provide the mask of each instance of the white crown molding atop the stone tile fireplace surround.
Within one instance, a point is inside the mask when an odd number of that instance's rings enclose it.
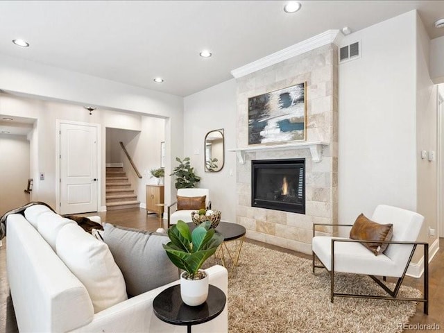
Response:
[[[241,78],[242,76],[246,76],[255,71],[259,71],[260,69],[264,69],[265,67],[275,65],[278,62],[293,58],[294,56],[317,49],[318,47],[326,44],[334,43],[339,46],[342,37],[343,34],[339,30],[327,30],[319,35],[309,38],[308,40],[304,40],[278,52],[271,53],[269,56],[250,62],[249,64],[237,69],[233,69],[231,71],[231,75],[234,76],[234,78]]]

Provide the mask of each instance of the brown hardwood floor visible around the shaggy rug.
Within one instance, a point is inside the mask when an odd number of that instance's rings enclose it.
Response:
[[[101,216],[102,221],[129,228],[155,231],[160,226],[159,219],[155,214],[147,215],[146,210],[139,208],[85,214],[85,216],[91,215],[99,215]],[[165,224],[166,223],[163,225],[164,228],[166,228]],[[278,246],[272,246],[258,241],[247,241],[274,250],[279,250],[284,253],[291,253],[298,257],[311,259],[311,256],[303,253],[279,248]],[[6,246],[6,241],[3,239],[3,247],[0,248],[0,333],[15,333],[18,332],[17,323],[15,322],[14,309],[10,299],[8,280],[6,278]],[[422,291],[422,279],[407,277],[404,284],[416,287]],[[422,303],[418,304],[416,314],[409,322],[409,325],[412,325],[411,329],[406,330],[406,332],[429,332],[429,330],[418,330],[418,324],[439,325],[441,330],[438,332],[444,332],[444,239],[440,239],[440,250],[429,265],[429,295],[429,315],[426,316],[423,314]],[[378,302],[378,300],[375,300],[375,302]]]

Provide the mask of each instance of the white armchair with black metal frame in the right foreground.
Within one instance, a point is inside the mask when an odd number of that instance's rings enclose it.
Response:
[[[371,218],[380,224],[393,224],[393,237],[391,241],[378,241],[389,244],[384,253],[374,255],[361,243],[375,243],[375,241],[361,241],[343,237],[316,236],[316,225],[332,225],[352,227],[352,225],[333,225],[314,223],[313,225],[313,273],[315,268],[325,268],[330,273],[330,301],[334,296],[359,297],[384,300],[412,300],[424,302],[424,313],[428,314],[429,300],[429,244],[416,241],[420,232],[424,216],[388,205],[378,205]],[[407,268],[416,250],[416,246],[424,247],[424,291],[423,298],[398,298],[398,291],[404,280]],[[317,260],[316,260],[317,259]],[[321,262],[321,265],[316,264]],[[352,293],[336,293],[334,291],[334,273],[352,273],[369,275],[379,287],[382,287],[389,296],[359,295]],[[377,276],[398,278],[395,289],[389,289]]]

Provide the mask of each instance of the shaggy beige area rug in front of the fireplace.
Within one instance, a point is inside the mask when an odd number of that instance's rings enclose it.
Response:
[[[402,332],[400,326],[416,311],[416,302],[338,297],[332,304],[330,275],[316,272],[308,259],[244,243],[239,266],[229,274],[229,332]],[[335,278],[335,291],[383,295],[379,289],[366,276]],[[399,295],[421,294],[402,287]]]

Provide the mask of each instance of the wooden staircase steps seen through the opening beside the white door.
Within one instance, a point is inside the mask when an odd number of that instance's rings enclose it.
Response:
[[[140,202],[123,168],[106,168],[106,210],[138,208]]]

